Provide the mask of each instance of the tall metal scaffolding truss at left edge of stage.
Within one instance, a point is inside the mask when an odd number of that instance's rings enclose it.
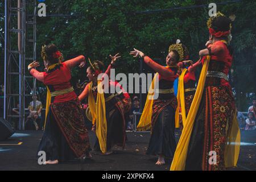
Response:
[[[4,118],[18,122],[19,130],[24,129],[27,102],[36,94],[35,79],[27,71],[32,60],[36,60],[36,0],[5,0]],[[14,115],[18,104],[19,114]]]

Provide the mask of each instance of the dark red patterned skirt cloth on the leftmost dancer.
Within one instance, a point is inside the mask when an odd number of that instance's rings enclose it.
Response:
[[[51,104],[52,113],[69,147],[78,158],[90,150],[89,135],[78,98]]]

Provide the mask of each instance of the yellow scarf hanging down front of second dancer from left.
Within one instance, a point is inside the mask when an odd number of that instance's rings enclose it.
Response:
[[[90,82],[89,85],[89,98],[88,104],[90,108],[90,112],[92,113],[93,125],[96,124],[96,135],[98,138],[98,142],[100,143],[101,152],[103,154],[106,153],[106,137],[107,137],[107,122],[106,122],[106,107],[105,107],[105,97],[104,90],[102,88],[101,81],[98,80],[98,93],[97,93],[97,101],[95,102],[92,92],[92,84]]]

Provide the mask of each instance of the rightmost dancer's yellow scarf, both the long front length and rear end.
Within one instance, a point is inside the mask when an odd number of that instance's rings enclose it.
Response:
[[[201,97],[204,92],[205,78],[208,71],[210,56],[204,61],[204,65],[200,74],[199,83],[197,85],[195,97],[193,98],[183,131],[180,136],[179,143],[174,154],[171,164],[171,171],[183,171],[185,169],[185,161],[187,158],[189,140],[193,130],[196,114],[199,109]],[[230,132],[227,134],[227,144],[225,148],[225,167],[236,166],[238,155],[240,152],[240,129],[238,127],[236,115],[233,118]]]

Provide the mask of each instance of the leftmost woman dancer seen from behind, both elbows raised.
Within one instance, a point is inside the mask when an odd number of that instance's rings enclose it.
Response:
[[[85,64],[85,57],[78,56],[61,63],[63,56],[54,44],[42,47],[46,72],[38,72],[39,63],[33,61],[28,71],[47,86],[46,123],[38,151],[46,152],[44,164],[91,157],[88,131],[80,102],[71,86],[71,68]]]

